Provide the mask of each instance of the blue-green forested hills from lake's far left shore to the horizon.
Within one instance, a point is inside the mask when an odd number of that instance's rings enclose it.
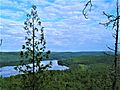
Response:
[[[100,56],[105,55],[103,52],[52,52],[50,58],[52,60],[64,60],[68,58],[83,56],[83,55],[94,55]],[[0,66],[15,65],[20,61],[19,52],[0,52]]]

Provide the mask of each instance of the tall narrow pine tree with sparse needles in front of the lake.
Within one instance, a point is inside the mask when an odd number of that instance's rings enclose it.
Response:
[[[50,51],[45,52],[46,41],[43,29],[36,6],[33,5],[31,13],[27,14],[27,19],[24,22],[24,30],[27,36],[25,37],[25,45],[22,45],[22,51],[20,52],[21,66],[15,68],[19,72],[24,73],[23,80],[27,80],[26,83],[24,81],[26,84],[24,88],[29,87],[28,89],[36,90],[35,84],[39,78],[37,78],[35,73],[42,72],[51,65],[51,63],[47,65],[41,64],[41,61],[48,58],[50,54]],[[26,62],[29,64],[26,64]]]

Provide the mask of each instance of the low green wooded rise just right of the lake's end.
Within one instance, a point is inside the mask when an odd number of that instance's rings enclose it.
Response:
[[[107,55],[82,55],[75,58],[70,58],[67,60],[59,61],[59,64],[71,66],[76,64],[84,64],[84,65],[90,65],[90,64],[113,64],[113,56],[107,56]]]

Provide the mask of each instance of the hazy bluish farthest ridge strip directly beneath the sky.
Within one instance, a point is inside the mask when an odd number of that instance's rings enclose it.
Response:
[[[103,52],[52,52],[50,54],[50,59],[64,59],[70,57],[76,57],[81,55],[103,55]],[[19,59],[19,52],[0,52],[1,60],[13,60]]]

